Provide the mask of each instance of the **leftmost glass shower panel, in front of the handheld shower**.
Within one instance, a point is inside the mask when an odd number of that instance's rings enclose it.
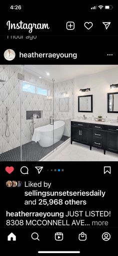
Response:
[[[0,65],[0,161],[20,161],[20,65]]]

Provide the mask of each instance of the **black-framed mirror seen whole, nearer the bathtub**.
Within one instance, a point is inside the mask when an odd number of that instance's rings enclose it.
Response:
[[[78,96],[78,112],[92,112],[92,95]]]

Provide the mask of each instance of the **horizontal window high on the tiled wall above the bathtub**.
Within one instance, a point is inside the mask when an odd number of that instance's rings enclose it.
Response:
[[[36,93],[44,96],[48,96],[49,90],[46,90],[44,88],[40,88],[35,85],[28,84],[26,82],[22,82],[22,91],[23,92],[29,92],[29,93]]]

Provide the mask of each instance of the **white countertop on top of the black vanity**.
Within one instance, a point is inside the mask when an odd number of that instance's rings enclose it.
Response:
[[[90,123],[90,124],[102,124],[102,125],[112,125],[118,126],[118,122],[108,121],[108,122],[101,122],[101,121],[92,121],[92,120],[81,120],[81,119],[72,119],[73,122],[81,122],[81,123]]]

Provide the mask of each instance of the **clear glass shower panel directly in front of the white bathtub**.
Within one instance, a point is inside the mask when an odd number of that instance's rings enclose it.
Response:
[[[22,161],[40,161],[53,152],[53,84],[37,66],[22,67]]]

